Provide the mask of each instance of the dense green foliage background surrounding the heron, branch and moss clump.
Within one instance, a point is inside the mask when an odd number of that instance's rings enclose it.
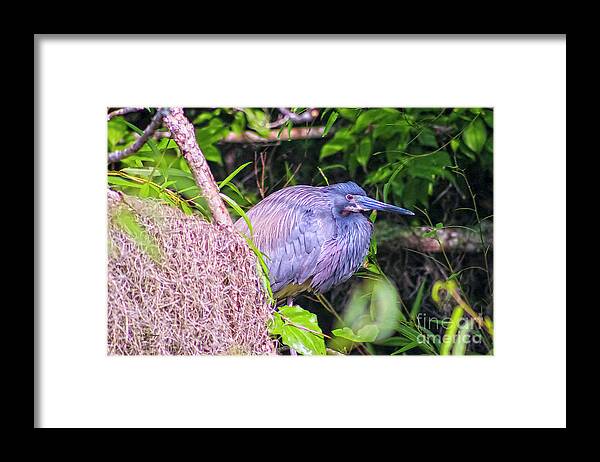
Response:
[[[153,112],[111,119],[108,151],[130,145]],[[279,308],[270,330],[282,352],[492,353],[493,110],[292,108],[292,114],[304,121],[278,109],[186,110],[233,216],[285,186],[350,179],[371,197],[417,214],[372,214],[376,232],[357,277]],[[108,182],[209,217],[168,137],[109,164]],[[452,233],[467,236],[470,247],[450,246]],[[426,241],[437,247],[406,244]]]

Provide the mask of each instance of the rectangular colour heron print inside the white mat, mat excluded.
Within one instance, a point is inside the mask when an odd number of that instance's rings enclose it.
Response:
[[[109,109],[109,354],[493,354],[493,117]]]

